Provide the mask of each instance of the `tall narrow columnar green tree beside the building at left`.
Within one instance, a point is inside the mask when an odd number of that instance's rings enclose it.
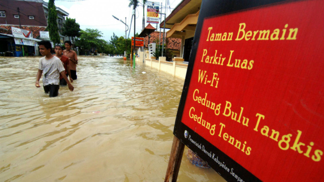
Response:
[[[56,12],[56,7],[54,4],[55,0],[49,0],[48,1],[48,29],[49,29],[49,34],[52,42],[54,44],[60,43],[60,38],[58,34],[58,28],[57,28],[57,12]]]

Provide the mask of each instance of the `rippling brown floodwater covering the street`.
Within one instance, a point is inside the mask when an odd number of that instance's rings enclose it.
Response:
[[[49,98],[35,87],[38,59],[0,57],[1,182],[164,181],[184,80],[80,56],[75,90]],[[224,182],[187,151],[179,182]]]

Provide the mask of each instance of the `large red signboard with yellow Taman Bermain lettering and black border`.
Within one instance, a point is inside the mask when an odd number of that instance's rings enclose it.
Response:
[[[173,133],[225,180],[323,181],[323,9],[202,1]]]

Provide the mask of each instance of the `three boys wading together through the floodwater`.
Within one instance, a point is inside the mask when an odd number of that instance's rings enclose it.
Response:
[[[68,85],[69,90],[73,91],[74,87],[71,83],[77,79],[77,56],[76,52],[71,50],[71,41],[67,40],[64,42],[66,48],[64,51],[61,45],[56,45],[55,55],[51,53],[52,44],[50,41],[43,40],[38,42],[38,45],[39,52],[44,57],[39,59],[35,86],[40,87],[39,79],[44,74],[43,88],[45,93],[49,93],[50,97],[56,97],[58,95],[60,85]]]

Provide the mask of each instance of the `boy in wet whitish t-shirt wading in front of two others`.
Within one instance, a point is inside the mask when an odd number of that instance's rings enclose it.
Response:
[[[45,93],[50,92],[50,97],[56,97],[58,95],[59,90],[59,74],[61,74],[64,80],[67,82],[70,91],[74,90],[74,87],[69,82],[68,78],[64,73],[64,67],[62,65],[61,60],[59,60],[56,56],[51,54],[52,44],[50,41],[40,41],[38,42],[39,52],[42,57],[39,59],[38,64],[38,73],[36,76],[36,87],[40,87],[39,79],[44,73],[43,76],[43,88]]]

